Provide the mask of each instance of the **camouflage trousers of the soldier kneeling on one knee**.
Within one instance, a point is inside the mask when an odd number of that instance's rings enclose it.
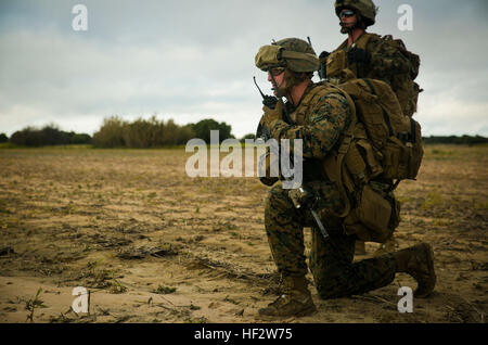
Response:
[[[330,216],[330,210],[343,208],[337,187],[325,182],[307,186],[320,189],[322,204],[318,210],[330,239],[324,240],[309,210],[294,207],[288,190],[274,186],[266,200],[265,227],[279,272],[292,277],[307,273],[304,227],[312,227],[309,266],[321,298],[362,294],[391,283],[396,269],[391,254],[352,263],[356,238],[345,234],[341,219]]]

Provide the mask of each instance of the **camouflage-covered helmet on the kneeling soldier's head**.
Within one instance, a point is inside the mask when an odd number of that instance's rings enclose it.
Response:
[[[256,54],[255,63],[265,72],[270,68],[286,67],[296,73],[312,73],[320,66],[314,50],[299,38],[285,38],[261,47]]]

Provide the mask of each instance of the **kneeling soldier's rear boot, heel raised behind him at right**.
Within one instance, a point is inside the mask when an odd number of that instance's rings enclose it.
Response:
[[[412,276],[418,283],[413,295],[427,297],[436,285],[434,271],[434,253],[427,243],[421,243],[393,254],[397,266],[397,272]]]

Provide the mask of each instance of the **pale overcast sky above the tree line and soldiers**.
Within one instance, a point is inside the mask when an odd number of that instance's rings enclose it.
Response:
[[[75,31],[75,4],[88,30]],[[261,100],[254,65],[271,39],[310,36],[335,49],[333,0],[0,0],[0,132],[55,123],[92,135],[103,118],[215,118],[254,132]],[[488,1],[375,0],[376,25],[421,56],[419,113],[425,136],[488,136]],[[413,30],[398,28],[400,4]],[[317,78],[314,78],[317,80]]]

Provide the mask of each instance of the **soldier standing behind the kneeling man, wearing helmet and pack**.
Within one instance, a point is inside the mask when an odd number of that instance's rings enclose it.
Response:
[[[338,84],[350,78],[383,80],[396,93],[403,114],[412,116],[421,92],[413,81],[419,74],[419,56],[408,51],[399,39],[367,33],[376,21],[377,8],[372,0],[336,0],[334,7],[341,33],[347,39],[332,53],[320,54],[320,76]],[[378,253],[394,248],[391,238]],[[357,253],[365,254],[363,242],[357,243]]]

